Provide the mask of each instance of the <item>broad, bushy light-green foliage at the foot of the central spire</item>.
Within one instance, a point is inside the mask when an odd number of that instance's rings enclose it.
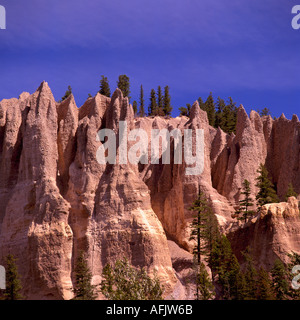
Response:
[[[163,288],[156,274],[151,279],[144,269],[136,269],[128,260],[107,264],[102,272],[101,292],[109,300],[162,300]]]

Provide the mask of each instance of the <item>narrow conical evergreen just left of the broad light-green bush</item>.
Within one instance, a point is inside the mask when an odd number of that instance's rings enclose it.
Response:
[[[80,252],[75,266],[74,300],[95,300],[95,286],[91,284],[92,273],[83,251]]]

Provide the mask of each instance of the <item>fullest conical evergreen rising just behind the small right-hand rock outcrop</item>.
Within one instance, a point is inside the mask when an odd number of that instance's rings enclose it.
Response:
[[[263,164],[260,164],[257,173],[259,173],[259,176],[256,178],[256,187],[258,187],[259,191],[256,195],[256,200],[259,207],[262,207],[267,203],[278,202],[279,199],[274,189],[274,185],[269,179],[268,170]]]

